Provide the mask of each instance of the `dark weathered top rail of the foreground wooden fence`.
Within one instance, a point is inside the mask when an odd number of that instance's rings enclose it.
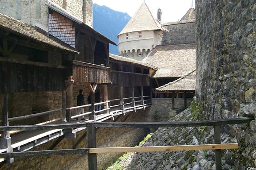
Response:
[[[22,130],[52,130],[66,128],[84,128],[88,124],[93,127],[102,128],[169,128],[169,127],[200,127],[200,126],[220,126],[226,124],[248,124],[253,117],[240,117],[223,120],[204,120],[204,121],[188,121],[188,122],[88,122],[88,123],[71,123],[71,124],[48,124],[48,125],[19,125],[19,126],[0,126],[0,131]]]

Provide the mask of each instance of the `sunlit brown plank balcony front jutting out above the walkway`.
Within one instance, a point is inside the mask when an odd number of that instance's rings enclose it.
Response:
[[[96,64],[73,61],[73,79],[79,82],[110,83],[110,68]]]

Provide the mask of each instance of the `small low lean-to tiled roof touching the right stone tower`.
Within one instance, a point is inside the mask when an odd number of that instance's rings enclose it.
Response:
[[[196,90],[196,70],[184,75],[178,80],[156,88],[158,91],[190,91]]]

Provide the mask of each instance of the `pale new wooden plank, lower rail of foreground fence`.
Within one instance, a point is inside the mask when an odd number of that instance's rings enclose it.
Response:
[[[208,145],[178,145],[160,147],[105,147],[89,148],[89,153],[125,153],[125,152],[162,152],[162,151],[197,151],[197,150],[219,150],[238,149],[237,143],[208,144]]]

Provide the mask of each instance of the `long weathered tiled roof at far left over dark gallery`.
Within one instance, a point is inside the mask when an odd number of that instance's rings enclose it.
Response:
[[[37,42],[43,42],[48,44],[49,46],[54,46],[62,50],[67,50],[75,53],[79,53],[71,46],[65,45],[64,43],[57,41],[56,39],[44,35],[40,31],[38,31],[35,27],[32,27],[26,23],[23,23],[17,19],[14,19],[12,17],[9,17],[7,15],[0,13],[0,28],[4,28],[10,32],[13,32],[18,35],[22,35],[25,37],[28,37],[30,39],[33,39]]]

